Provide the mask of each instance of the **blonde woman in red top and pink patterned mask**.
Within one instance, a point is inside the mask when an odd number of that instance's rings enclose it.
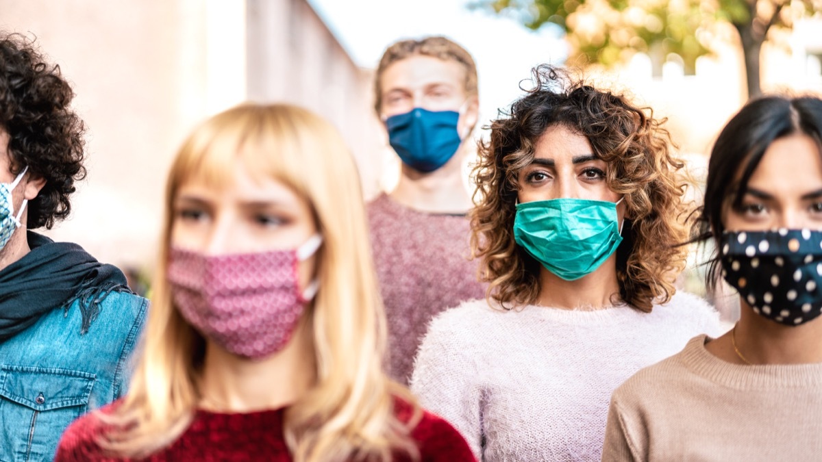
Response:
[[[381,371],[358,175],[330,124],[243,105],[182,146],[144,351],[57,460],[473,460]]]

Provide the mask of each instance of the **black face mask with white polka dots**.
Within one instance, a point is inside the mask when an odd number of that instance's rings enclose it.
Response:
[[[726,231],[723,278],[754,312],[787,326],[822,313],[822,232]]]

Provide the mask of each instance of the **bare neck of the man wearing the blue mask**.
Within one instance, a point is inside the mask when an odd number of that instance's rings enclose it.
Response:
[[[399,183],[390,196],[413,210],[439,214],[464,214],[471,206],[471,197],[463,182],[462,150],[440,169],[421,173],[402,165]]]

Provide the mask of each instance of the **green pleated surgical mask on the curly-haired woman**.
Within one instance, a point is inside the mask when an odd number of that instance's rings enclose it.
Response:
[[[517,204],[514,239],[563,280],[591,274],[622,242],[617,204],[552,199]]]

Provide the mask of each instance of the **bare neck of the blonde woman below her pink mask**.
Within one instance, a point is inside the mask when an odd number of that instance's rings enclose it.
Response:
[[[238,357],[209,341],[200,383],[201,407],[247,413],[279,409],[299,400],[316,382],[307,327],[301,321],[285,348],[262,360]]]

